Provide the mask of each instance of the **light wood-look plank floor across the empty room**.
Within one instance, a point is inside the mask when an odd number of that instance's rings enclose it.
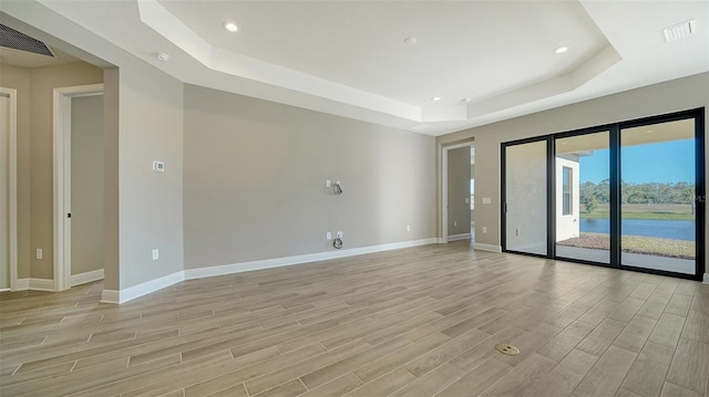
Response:
[[[0,395],[709,397],[691,281],[462,241],[101,289],[0,294]]]

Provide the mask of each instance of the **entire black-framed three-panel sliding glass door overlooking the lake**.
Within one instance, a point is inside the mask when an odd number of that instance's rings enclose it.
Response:
[[[503,251],[700,280],[703,108],[502,144]]]

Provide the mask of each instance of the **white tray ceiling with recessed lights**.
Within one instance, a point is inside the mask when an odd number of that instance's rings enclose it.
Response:
[[[37,3],[186,83],[430,135],[709,71],[708,1]]]

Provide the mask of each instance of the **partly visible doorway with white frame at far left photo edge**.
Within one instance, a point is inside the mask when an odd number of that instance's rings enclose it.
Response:
[[[17,91],[0,87],[0,291],[17,286]]]

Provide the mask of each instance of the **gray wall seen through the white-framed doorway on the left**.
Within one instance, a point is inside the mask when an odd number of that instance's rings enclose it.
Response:
[[[103,95],[71,100],[71,273],[103,269]]]

